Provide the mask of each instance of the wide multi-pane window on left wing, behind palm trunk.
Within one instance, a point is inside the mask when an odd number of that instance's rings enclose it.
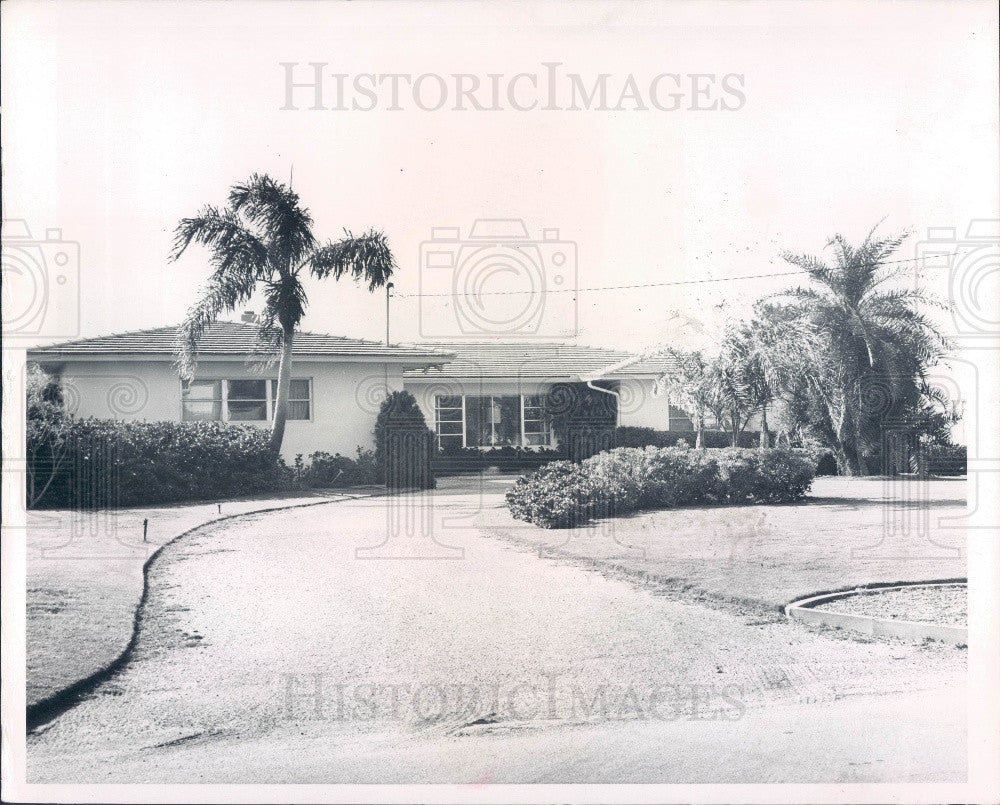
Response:
[[[185,422],[267,422],[274,418],[277,380],[194,380],[182,387]],[[288,419],[308,420],[312,414],[311,382],[292,379]]]

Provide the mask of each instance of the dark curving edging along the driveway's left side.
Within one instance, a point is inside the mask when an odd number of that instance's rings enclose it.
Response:
[[[164,549],[174,545],[184,537],[201,531],[203,528],[218,525],[219,523],[230,520],[238,520],[242,517],[253,517],[255,515],[266,514],[268,512],[305,509],[310,506],[325,506],[329,503],[343,503],[346,500],[362,500],[364,498],[379,496],[380,495],[377,493],[368,495],[345,493],[343,496],[337,498],[326,498],[324,500],[311,501],[309,503],[295,503],[290,506],[272,506],[266,509],[254,509],[253,511],[240,512],[239,514],[230,514],[223,517],[216,517],[213,520],[206,520],[204,523],[199,523],[198,525],[189,528],[187,531],[181,532],[176,537],[169,539],[167,542],[164,542],[159,548],[150,554],[149,558],[146,559],[142,565],[142,594],[139,597],[139,604],[135,608],[135,613],[132,615],[132,635],[129,638],[128,645],[125,646],[125,649],[121,654],[115,657],[107,665],[98,668],[96,671],[83,677],[83,679],[78,679],[76,682],[67,685],[62,690],[58,690],[55,693],[46,696],[44,699],[40,699],[34,704],[27,705],[25,708],[26,732],[28,734],[34,732],[39,727],[54,721],[67,710],[76,706],[76,704],[87,696],[87,694],[93,691],[102,682],[105,682],[113,677],[129,661],[132,653],[135,651],[136,644],[139,641],[139,623],[142,620],[142,613],[146,608],[146,599],[149,595],[149,572],[153,567],[153,563],[159,558],[160,554],[163,553]]]

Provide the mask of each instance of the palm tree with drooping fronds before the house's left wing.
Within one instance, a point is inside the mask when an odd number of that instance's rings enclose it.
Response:
[[[191,380],[197,364],[198,342],[205,330],[224,313],[248,302],[257,290],[264,295],[258,320],[258,347],[265,355],[280,355],[278,392],[271,428],[271,449],[281,449],[288,417],[292,345],[305,315],[307,275],[317,279],[349,275],[362,280],[369,291],[383,287],[396,261],[381,232],[320,244],[313,235],[308,208],[290,187],[266,174],[253,174],[233,185],[224,208],[204,207],[194,218],[177,225],[171,261],[192,243],[212,253],[212,274],[201,298],[188,310],[177,344],[181,378]]]

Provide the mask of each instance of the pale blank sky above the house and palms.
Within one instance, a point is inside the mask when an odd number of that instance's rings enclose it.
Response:
[[[291,180],[323,239],[386,234],[399,264],[394,342],[509,335],[489,321],[513,315],[503,304],[517,295],[497,292],[523,290],[524,276],[481,276],[499,312],[464,323],[441,307],[449,296],[417,296],[450,293],[454,272],[431,268],[428,252],[472,248],[479,219],[521,220],[535,241],[558,230],[519,252],[548,290],[553,272],[564,283],[525,314],[532,337],[640,350],[697,345],[691,320],[710,333],[794,284],[733,280],[788,271],[786,250],[860,240],[881,222],[913,233],[899,253],[911,258],[928,228],[961,237],[1000,216],[991,3],[9,0],[2,37],[4,219],[36,243],[58,228],[79,244],[78,275],[51,286],[37,342],[180,321],[209,262],[191,250],[169,263],[174,227],[253,172]],[[419,104],[404,87],[398,111],[384,84],[370,111],[350,108],[368,102],[358,93],[346,109],[310,109],[309,88],[282,109],[283,63],[296,81],[325,63],[327,106],[334,74],[349,87],[362,74],[431,78]],[[455,74],[483,86],[500,75],[505,90],[521,73],[542,81],[550,63],[558,110],[519,111],[505,92],[499,110],[452,108]],[[587,86],[607,74],[615,97],[631,75],[643,98],[568,109],[569,74]],[[651,105],[662,74],[680,76],[681,108]],[[420,108],[435,103],[435,76],[447,103]],[[710,87],[695,97],[699,80]],[[531,79],[519,81],[525,105]],[[713,103],[730,108],[691,108]],[[458,240],[428,245],[442,227]],[[556,253],[569,262],[552,265]],[[679,282],[691,284],[586,290]],[[925,284],[947,301],[947,271]],[[385,337],[382,294],[307,288],[304,329]]]

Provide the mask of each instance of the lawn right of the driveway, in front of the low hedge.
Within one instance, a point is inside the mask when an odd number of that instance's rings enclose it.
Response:
[[[775,610],[854,585],[965,578],[965,496],[964,479],[820,477],[800,503],[641,512],[545,530],[514,520],[489,494],[479,521],[543,555],[665,593]]]

